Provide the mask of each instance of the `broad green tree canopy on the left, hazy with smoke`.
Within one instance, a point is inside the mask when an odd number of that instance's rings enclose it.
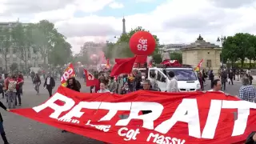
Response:
[[[44,66],[47,66],[47,61],[54,66],[63,65],[72,58],[72,46],[66,42],[66,37],[58,32],[54,24],[47,20],[27,25],[18,23],[10,34],[10,46],[14,48],[18,58],[25,62],[26,68],[28,60],[38,58],[32,58],[31,50],[34,54],[41,55]]]

